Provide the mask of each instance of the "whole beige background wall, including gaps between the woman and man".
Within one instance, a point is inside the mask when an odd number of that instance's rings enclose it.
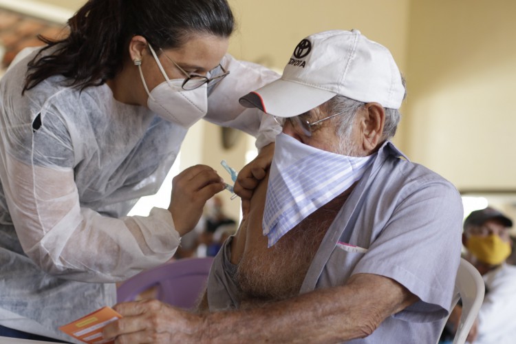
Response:
[[[1,1],[6,0],[0,0]],[[460,190],[516,191],[516,1],[514,0],[228,0],[238,28],[230,53],[283,69],[303,37],[358,28],[391,50],[407,78],[408,97],[395,143]],[[17,0],[17,2],[24,2]],[[74,12],[84,1],[40,0]],[[220,160],[240,169],[252,140],[223,149],[219,128],[195,125],[179,170]],[[237,215],[237,201],[226,205]],[[500,207],[514,214],[514,201]]]

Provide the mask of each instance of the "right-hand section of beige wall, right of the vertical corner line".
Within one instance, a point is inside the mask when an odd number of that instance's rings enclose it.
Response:
[[[459,189],[516,189],[516,1],[412,1],[407,153]]]

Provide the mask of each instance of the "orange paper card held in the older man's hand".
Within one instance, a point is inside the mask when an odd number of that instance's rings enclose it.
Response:
[[[59,327],[59,330],[84,343],[113,343],[113,341],[105,341],[103,339],[102,329],[108,323],[120,318],[122,316],[115,312],[115,310],[110,307],[104,307],[76,321],[72,321],[72,323]]]

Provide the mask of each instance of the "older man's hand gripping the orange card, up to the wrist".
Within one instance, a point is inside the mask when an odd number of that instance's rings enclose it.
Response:
[[[104,338],[115,343],[200,343],[202,316],[173,308],[158,300],[119,303],[123,318],[109,323]]]

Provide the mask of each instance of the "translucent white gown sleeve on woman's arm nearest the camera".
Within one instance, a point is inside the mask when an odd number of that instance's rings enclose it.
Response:
[[[81,206],[78,144],[63,115],[77,105],[49,99],[39,114],[30,114],[36,96],[0,104],[0,205],[9,212],[2,220],[14,225],[23,252],[52,275],[87,282],[121,281],[167,261],[180,237],[166,209],[114,218]]]

